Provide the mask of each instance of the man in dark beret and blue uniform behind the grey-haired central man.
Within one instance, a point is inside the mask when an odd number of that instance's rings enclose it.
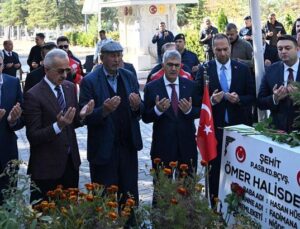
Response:
[[[174,42],[176,50],[181,54],[181,63],[189,67],[193,75],[196,75],[198,71],[198,65],[200,64],[196,53],[191,52],[185,48],[185,36],[179,33],[175,36]]]

